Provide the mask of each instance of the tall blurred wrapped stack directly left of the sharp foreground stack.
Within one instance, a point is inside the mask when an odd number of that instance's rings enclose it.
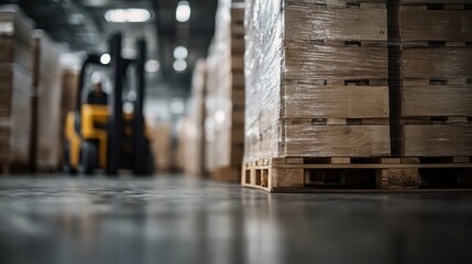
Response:
[[[208,56],[207,168],[211,177],[239,183],[244,151],[244,4],[220,0]]]

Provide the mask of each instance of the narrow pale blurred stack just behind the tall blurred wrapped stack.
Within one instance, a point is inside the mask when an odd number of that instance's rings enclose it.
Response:
[[[206,63],[200,59],[194,68],[191,97],[188,100],[185,131],[184,172],[188,175],[205,176],[205,89]]]

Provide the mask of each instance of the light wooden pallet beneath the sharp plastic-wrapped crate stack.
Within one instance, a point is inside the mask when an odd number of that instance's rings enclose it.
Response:
[[[243,186],[266,191],[472,187],[466,157],[277,157],[245,163]]]

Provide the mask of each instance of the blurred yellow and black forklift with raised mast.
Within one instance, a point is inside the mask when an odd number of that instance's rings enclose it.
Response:
[[[143,116],[146,43],[138,40],[135,59],[121,56],[120,33],[113,34],[109,44],[109,64],[103,65],[99,55],[89,54],[80,69],[76,109],[66,119],[64,168],[69,174],[84,175],[92,175],[96,169],[103,169],[107,175],[117,175],[119,169],[151,175],[154,158]],[[106,67],[110,75],[111,91],[105,106],[84,101],[87,69],[91,66]],[[128,112],[123,111],[123,91],[129,88],[125,80],[133,80],[135,95],[127,102],[133,106]]]

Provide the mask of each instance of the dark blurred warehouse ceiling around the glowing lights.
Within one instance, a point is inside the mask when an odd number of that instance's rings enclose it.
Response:
[[[124,55],[132,56],[134,41],[144,36],[149,57],[157,59],[160,69],[149,74],[151,96],[186,97],[189,94],[195,61],[206,57],[215,29],[217,0],[187,0],[191,8],[187,22],[176,21],[179,0],[0,0],[17,3],[34,20],[36,28],[46,31],[53,40],[69,52],[107,52],[107,38],[113,32],[124,34]],[[117,9],[146,9],[146,22],[116,23],[106,20],[106,12]],[[188,50],[187,68],[174,69],[174,48]]]

